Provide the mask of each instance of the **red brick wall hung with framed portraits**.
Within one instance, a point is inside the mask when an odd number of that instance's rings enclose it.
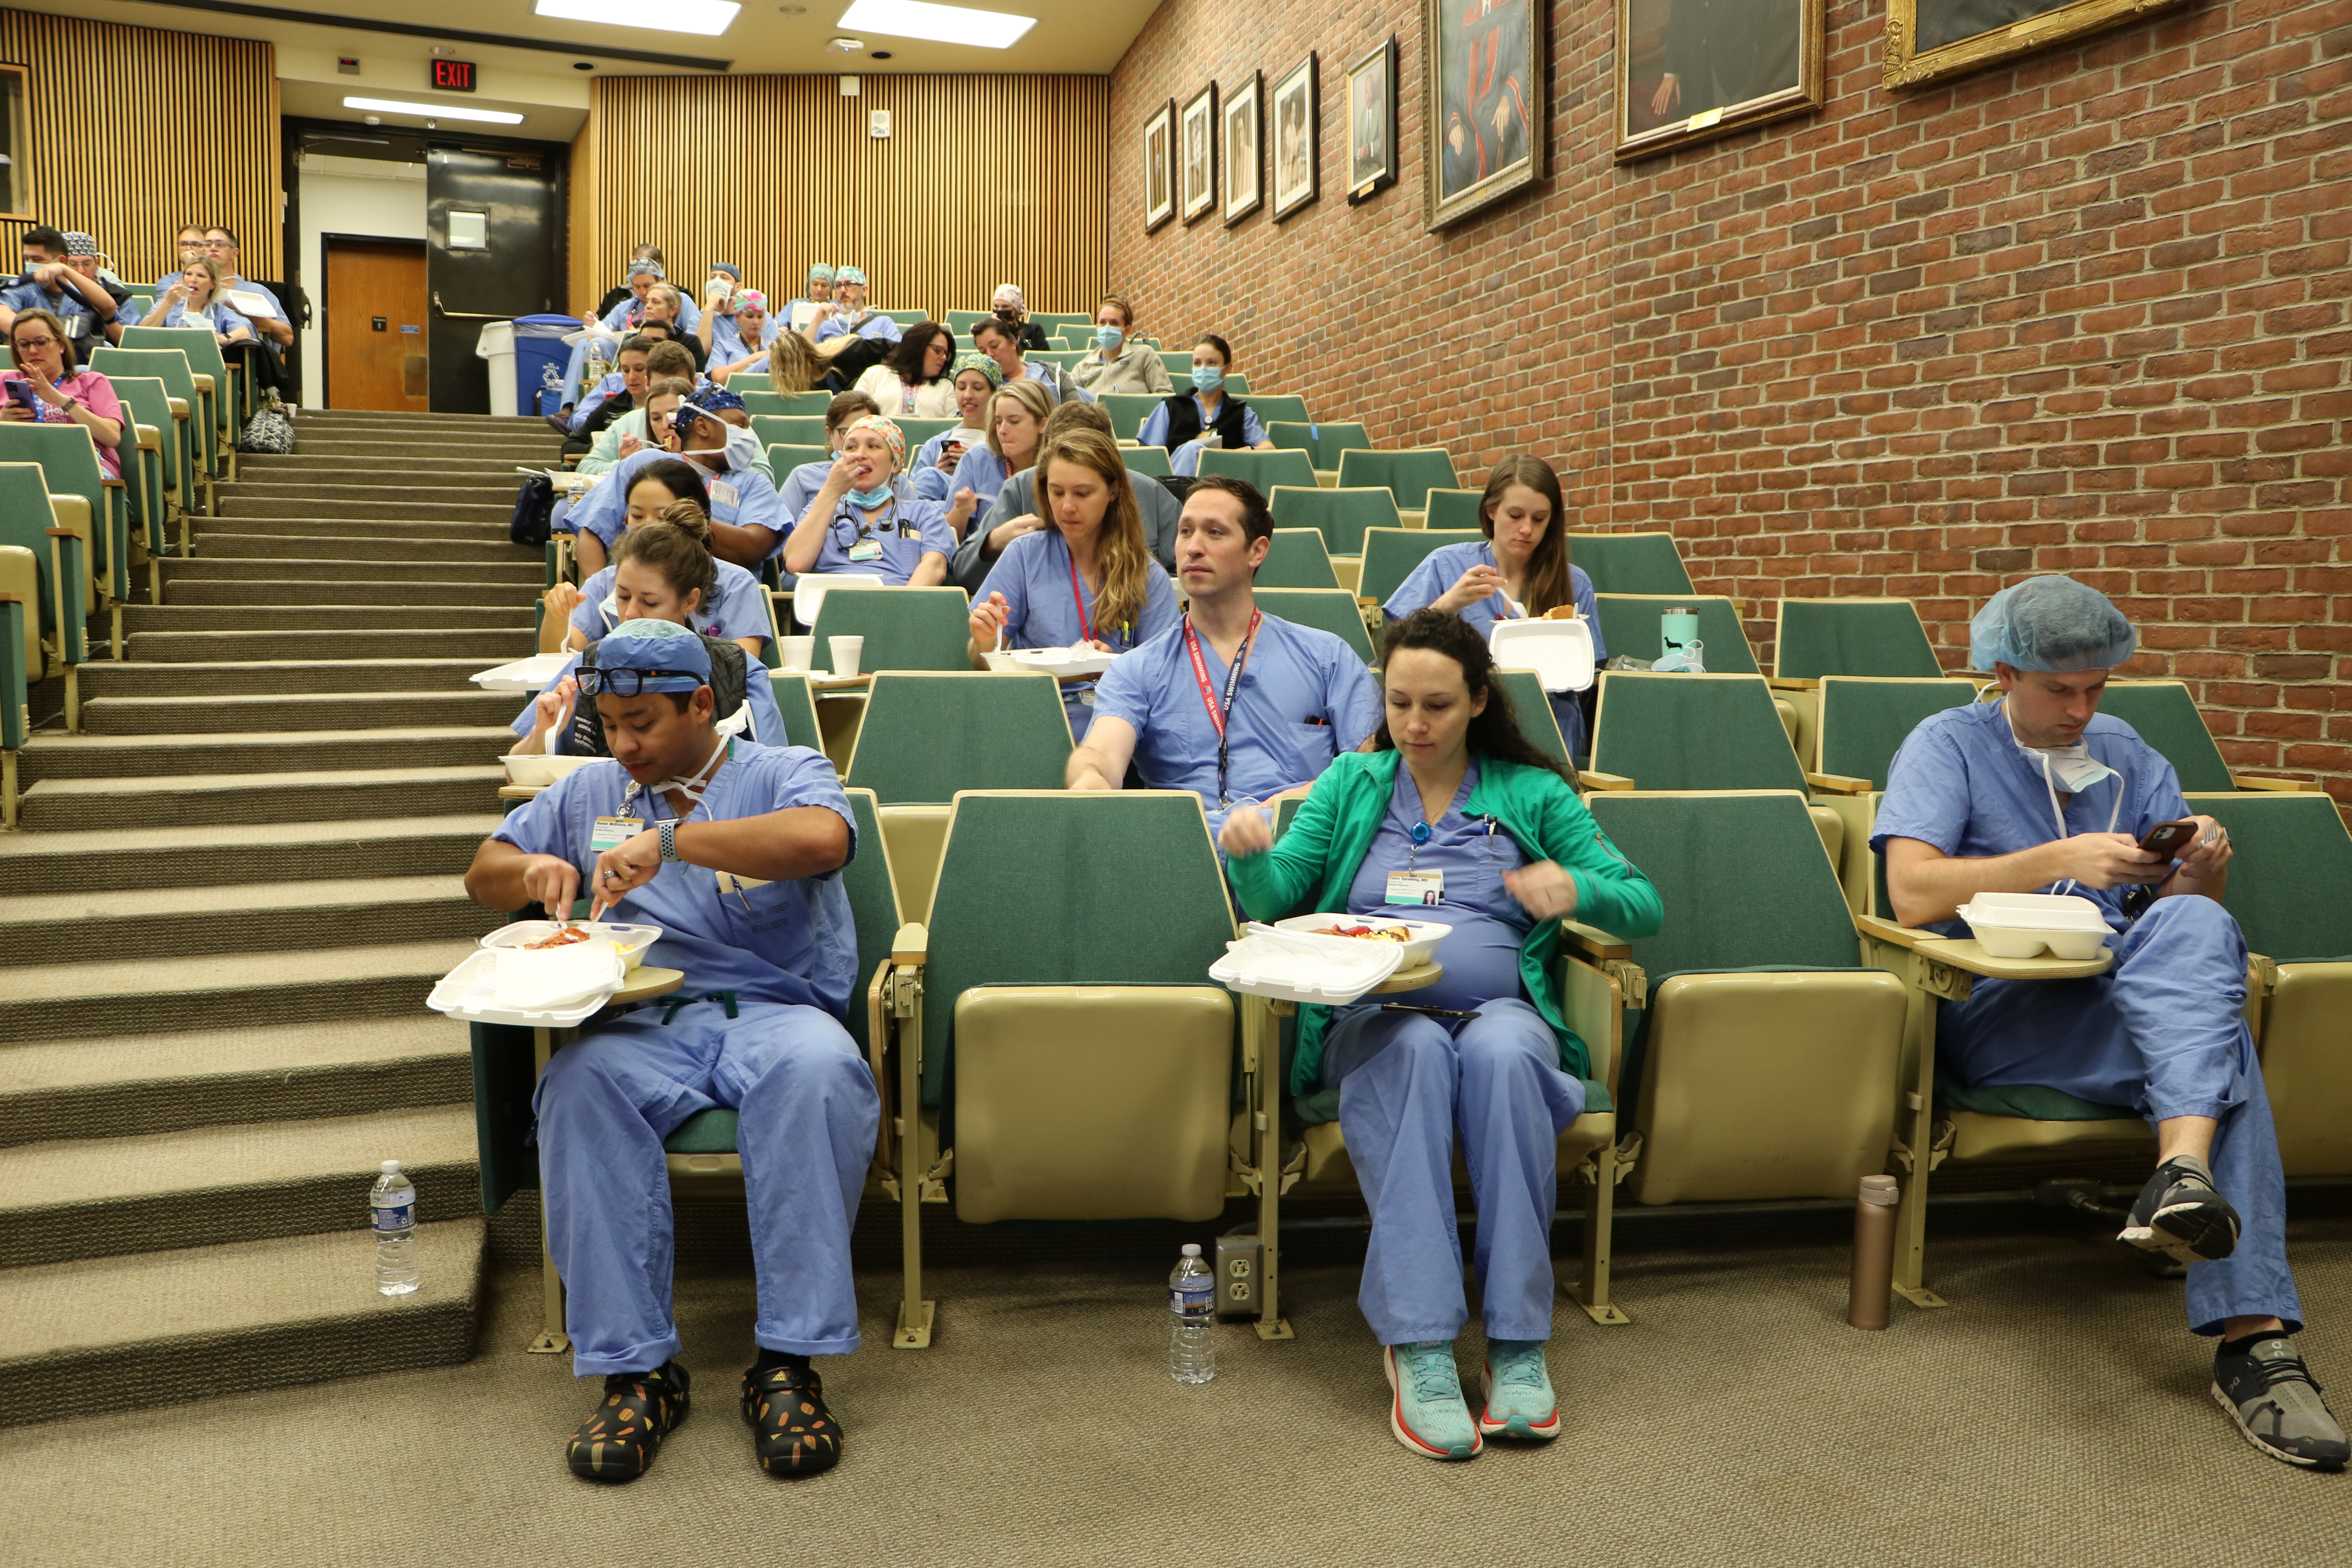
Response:
[[[1613,5],[1552,5],[1552,176],[1421,228],[1418,5],[1167,0],[1120,61],[1110,275],[1171,346],[1465,482],[1548,456],[1583,527],[1670,527],[1703,592],[1919,602],[2072,571],[2234,766],[2352,804],[2352,0],[2204,0],[1929,89],[1830,0],[1828,108],[1613,167]],[[1343,68],[1395,31],[1402,179],[1334,190]],[[1167,99],[1322,52],[1324,197],[1143,233]]]

